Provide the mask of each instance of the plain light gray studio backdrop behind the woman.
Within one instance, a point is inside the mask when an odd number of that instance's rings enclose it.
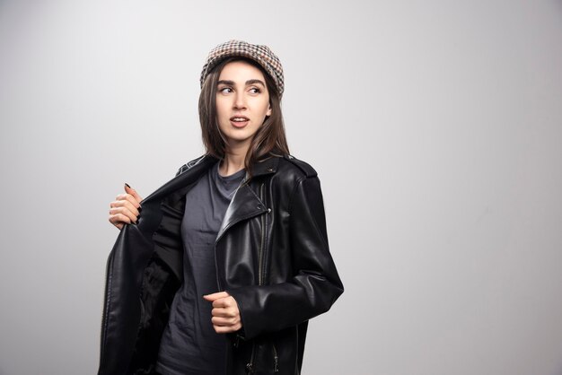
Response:
[[[0,1],[0,374],[96,371],[124,182],[202,153],[227,39],[285,65],[347,291],[304,374],[562,373],[562,4]]]

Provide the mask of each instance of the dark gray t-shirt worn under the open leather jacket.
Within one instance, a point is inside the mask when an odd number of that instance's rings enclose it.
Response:
[[[181,222],[184,281],[162,334],[156,366],[162,375],[224,375],[226,340],[215,333],[212,305],[202,295],[218,291],[216,234],[244,174],[240,170],[222,177],[217,163],[186,195]]]

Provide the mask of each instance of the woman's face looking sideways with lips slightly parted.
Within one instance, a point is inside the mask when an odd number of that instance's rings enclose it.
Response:
[[[224,65],[216,90],[216,119],[227,148],[247,151],[270,115],[268,87],[261,71],[244,61]]]

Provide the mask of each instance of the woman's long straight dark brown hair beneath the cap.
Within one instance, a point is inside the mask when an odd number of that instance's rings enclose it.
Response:
[[[271,76],[256,62],[242,57],[231,57],[225,59],[207,75],[205,83],[199,94],[199,122],[206,153],[218,159],[224,158],[226,143],[216,120],[216,88],[218,78],[223,71],[224,65],[233,61],[244,61],[259,68],[266,79],[269,93],[269,105],[271,115],[268,116],[251,140],[250,148],[244,159],[244,167],[251,177],[251,166],[257,162],[267,159],[271,155],[284,155],[289,153],[287,145],[283,113],[281,112],[281,98],[277,92],[277,86]]]

